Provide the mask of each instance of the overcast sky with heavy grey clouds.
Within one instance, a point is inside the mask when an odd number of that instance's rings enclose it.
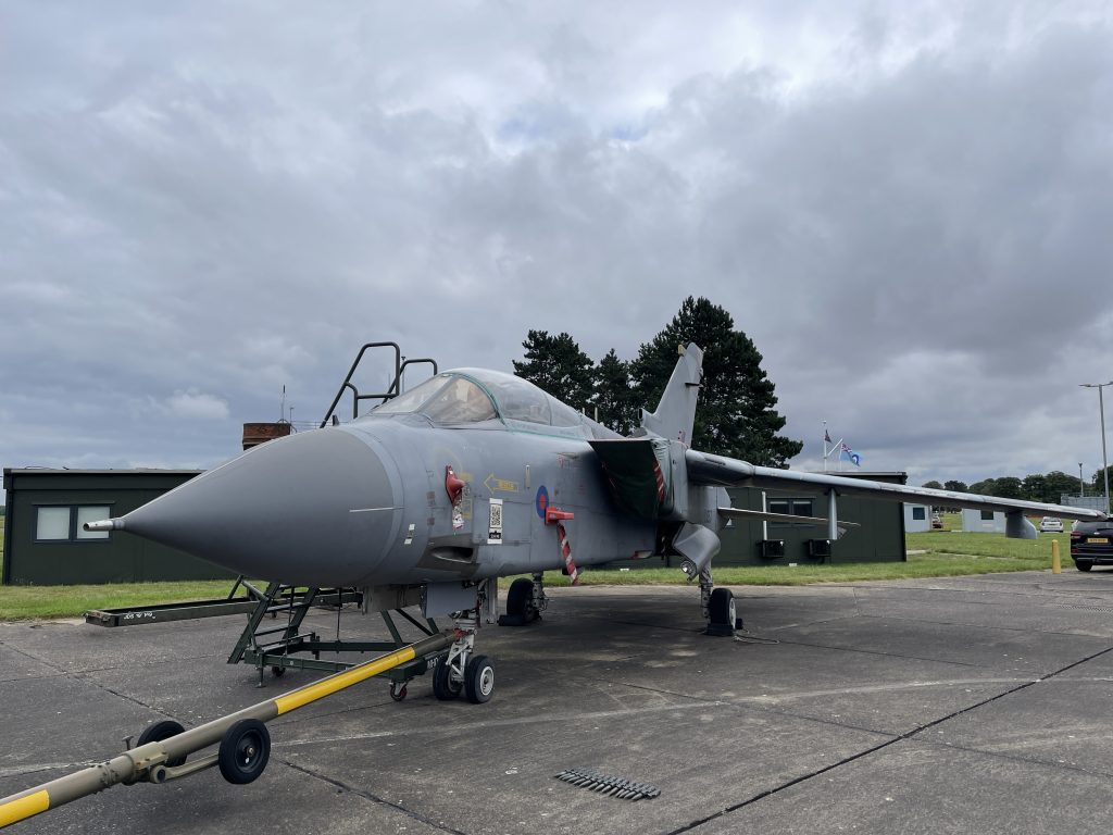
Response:
[[[1089,479],[1110,9],[7,2],[0,463],[206,468],[364,342],[630,358],[692,294],[795,468]]]

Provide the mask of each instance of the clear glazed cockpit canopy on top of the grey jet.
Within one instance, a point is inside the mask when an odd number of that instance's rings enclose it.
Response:
[[[580,414],[533,383],[486,369],[437,374],[374,410],[373,414],[423,414],[441,425],[502,419],[540,426],[580,426]]]

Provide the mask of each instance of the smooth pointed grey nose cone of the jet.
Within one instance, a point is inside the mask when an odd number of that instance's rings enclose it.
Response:
[[[128,513],[124,529],[252,578],[352,586],[395,525],[384,462],[322,429],[270,441]]]

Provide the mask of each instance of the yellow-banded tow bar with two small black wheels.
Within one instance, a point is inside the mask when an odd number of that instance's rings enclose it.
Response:
[[[57,808],[79,797],[96,794],[117,783],[132,785],[139,782],[161,784],[176,777],[220,765],[225,777],[234,783],[249,783],[263,773],[269,754],[270,737],[265,723],[305,707],[334,692],[365,681],[372,676],[393,669],[415,658],[440,652],[456,639],[454,632],[442,632],[396,649],[385,656],[356,665],[349,669],[314,681],[305,687],[290,690],[267,701],[245,707],[234,714],[214,719],[196,728],[183,730],[159,741],[150,741],[124,752],[107,763],[82,768],[80,772],[43,783],[41,786],[0,799],[0,828],[18,821]],[[180,726],[178,726],[180,727]],[[208,754],[186,764],[189,754],[220,743],[220,752]],[[259,748],[265,748],[262,753]],[[228,749],[225,753],[225,748]],[[223,762],[224,760],[224,762]],[[225,772],[225,762],[234,769],[234,775]],[[243,772],[235,772],[236,764],[243,764]]]

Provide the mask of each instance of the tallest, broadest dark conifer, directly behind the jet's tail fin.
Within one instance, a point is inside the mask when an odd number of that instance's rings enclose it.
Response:
[[[804,443],[778,435],[785,419],[774,409],[774,384],[761,370],[761,354],[735,330],[726,310],[689,296],[672,322],[641,346],[630,376],[638,396],[653,409],[677,363],[677,348],[695,342],[703,348],[703,385],[692,446],[755,464],[787,466]]]

